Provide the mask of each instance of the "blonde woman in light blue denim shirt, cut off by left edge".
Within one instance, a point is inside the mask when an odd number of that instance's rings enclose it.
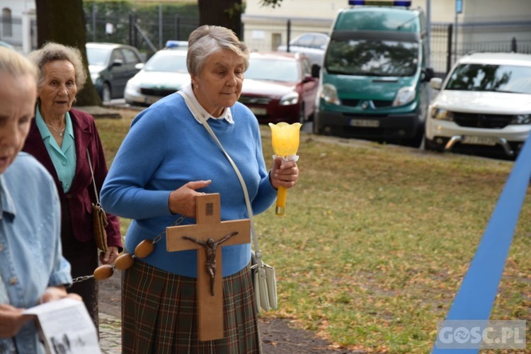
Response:
[[[28,307],[67,295],[59,199],[41,164],[21,152],[35,113],[37,69],[0,47],[0,353],[44,353]]]

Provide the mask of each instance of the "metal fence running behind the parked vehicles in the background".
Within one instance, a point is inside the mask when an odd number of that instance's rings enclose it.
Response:
[[[96,8],[94,6],[93,8]],[[321,18],[278,18],[242,15],[241,38],[251,50],[276,50],[292,38],[307,32],[329,33],[333,20]],[[188,40],[198,27],[197,17],[179,13],[139,16],[135,11],[107,16],[86,13],[86,38],[89,42],[116,42],[137,47],[146,59],[164,47],[167,40]],[[445,76],[452,64],[469,52],[520,52],[531,54],[531,21],[518,23],[432,23],[430,27],[430,66]],[[0,40],[15,47],[22,45],[20,18],[0,17]],[[31,21],[31,49],[37,45],[36,21]],[[492,35],[489,35],[492,33]],[[515,34],[515,35],[513,35]],[[515,36],[518,35],[517,39]],[[457,45],[456,45],[457,37]],[[488,38],[488,39],[487,39]],[[503,38],[503,39],[501,39]]]

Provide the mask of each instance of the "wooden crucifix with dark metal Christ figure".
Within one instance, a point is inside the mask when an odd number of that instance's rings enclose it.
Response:
[[[249,219],[221,221],[219,193],[195,198],[197,224],[166,228],[166,249],[198,251],[198,333],[200,341],[223,338],[222,246],[249,244]]]

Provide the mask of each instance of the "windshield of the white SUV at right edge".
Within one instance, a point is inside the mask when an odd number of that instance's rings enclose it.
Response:
[[[445,89],[531,94],[531,67],[462,64],[452,72]]]

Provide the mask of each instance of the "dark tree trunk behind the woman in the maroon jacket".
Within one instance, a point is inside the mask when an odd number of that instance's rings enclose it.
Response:
[[[91,81],[86,59],[86,30],[83,0],[36,0],[37,43],[57,42],[81,50],[87,81],[83,90],[77,93],[76,105],[101,105],[101,98]]]

